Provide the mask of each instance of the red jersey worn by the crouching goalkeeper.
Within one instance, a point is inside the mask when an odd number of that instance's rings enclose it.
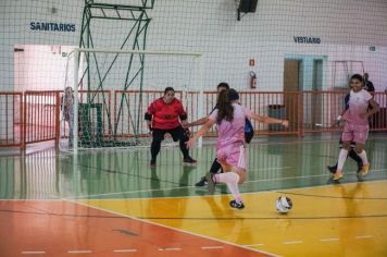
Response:
[[[153,117],[152,127],[159,130],[175,128],[180,124],[178,118],[187,117],[182,102],[176,98],[174,98],[171,103],[165,103],[161,97],[148,107],[147,112]]]

